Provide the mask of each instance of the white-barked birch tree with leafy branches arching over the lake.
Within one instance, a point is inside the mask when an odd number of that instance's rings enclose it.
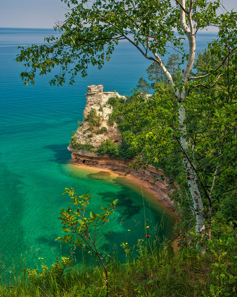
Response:
[[[221,6],[220,0],[96,0],[93,4],[87,0],[64,2],[69,7],[72,4],[72,8],[65,15],[65,21],[55,27],[61,36],[58,39],[53,36],[46,38],[47,45],[21,48],[17,62],[25,62],[29,69],[21,73],[23,82],[34,83],[36,72],[39,71],[40,75],[43,75],[50,72],[51,68],[59,66],[59,73],[52,78],[50,84],[62,85],[67,72],[71,75],[70,84],[73,84],[79,72],[82,76],[87,75],[89,63],[102,68],[104,61],[109,61],[119,40],[128,40],[134,45],[141,53],[141,59],[143,57],[156,62],[165,74],[178,102],[177,139],[180,159],[193,199],[196,233],[200,234],[205,229],[201,193],[205,189],[211,209],[212,193],[222,161],[216,158],[215,163],[211,164],[212,181],[206,181],[211,187],[205,188],[205,185],[199,182],[201,174],[193,161],[193,154],[199,147],[195,147],[195,143],[190,145],[185,105],[190,90],[199,88],[203,91],[204,88],[212,88],[222,76],[228,75],[226,68],[221,67],[227,60],[231,58],[231,64],[236,67],[236,12],[217,15],[217,9]],[[209,26],[215,26],[219,30],[218,38],[209,45],[209,50],[219,57],[221,63],[211,71],[190,76],[196,52],[195,37],[201,29],[208,29]],[[188,53],[183,49],[184,40],[189,44]],[[167,46],[182,53],[183,70],[179,82],[174,82],[172,72],[169,72],[162,62],[162,57],[168,54]],[[223,121],[217,153],[219,156],[223,151],[227,130]]]

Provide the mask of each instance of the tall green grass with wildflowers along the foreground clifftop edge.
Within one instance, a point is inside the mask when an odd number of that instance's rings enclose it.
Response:
[[[195,249],[184,247],[173,252],[171,244],[152,247],[151,238],[138,241],[133,256],[133,247],[122,244],[126,262],[120,263],[116,253],[107,257],[111,297],[199,297],[208,292],[211,284],[217,283],[212,273],[214,255],[200,256]],[[152,242],[151,242],[152,243]],[[41,273],[26,270],[14,272],[12,279],[0,288],[2,297],[103,297],[106,295],[105,275],[97,260],[93,267],[71,265],[68,258],[58,259],[51,268],[43,267]],[[230,268],[231,269],[231,268]],[[235,270],[236,271],[236,270]],[[234,271],[232,271],[234,272]],[[227,290],[237,296],[235,283]],[[14,293],[15,292],[15,293]]]

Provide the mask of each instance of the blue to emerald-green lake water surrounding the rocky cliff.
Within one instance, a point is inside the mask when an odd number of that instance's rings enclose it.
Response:
[[[76,192],[91,190],[92,210],[118,198],[111,222],[100,238],[106,253],[123,241],[133,245],[144,238],[144,211],[140,188],[106,173],[82,170],[71,164],[67,146],[71,131],[82,120],[88,85],[104,85],[104,91],[116,89],[130,94],[138,79],[147,78],[150,64],[127,42],[121,42],[111,61],[102,70],[89,67],[88,77],[78,76],[74,86],[51,87],[50,76],[37,77],[34,86],[24,86],[19,78],[23,67],[15,61],[18,45],[44,42],[54,34],[47,29],[0,29],[0,184],[1,184],[1,271],[12,269],[15,261],[25,257],[27,267],[40,265],[38,257],[51,264],[59,255],[68,256],[70,246],[55,241],[61,235],[58,212],[68,206],[64,187]],[[206,41],[199,48],[206,46]],[[201,39],[200,39],[201,40]],[[92,198],[93,199],[93,198]],[[145,215],[153,226],[160,223],[164,208],[144,195]],[[150,204],[151,203],[151,204]],[[169,237],[173,218],[164,213],[164,230],[159,236]],[[137,225],[138,223],[138,225]],[[135,225],[137,225],[135,227]],[[127,231],[130,229],[131,231]]]

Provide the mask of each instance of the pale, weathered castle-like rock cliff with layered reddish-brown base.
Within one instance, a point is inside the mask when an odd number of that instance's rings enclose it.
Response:
[[[83,111],[84,119],[87,117],[91,108],[94,108],[97,114],[102,116],[100,127],[96,129],[101,129],[105,127],[106,132],[103,134],[96,134],[93,132],[92,137],[88,137],[92,132],[89,128],[89,123],[83,121],[81,126],[78,127],[75,133],[76,140],[82,145],[89,143],[94,147],[94,151],[89,151],[86,149],[75,149],[71,145],[68,146],[68,149],[72,151],[72,162],[78,165],[86,165],[97,168],[105,168],[108,170],[122,172],[123,174],[128,171],[128,163],[134,163],[135,159],[121,160],[121,159],[111,159],[108,154],[99,156],[96,152],[96,149],[101,145],[101,141],[110,138],[115,140],[118,144],[121,141],[121,135],[119,133],[116,124],[112,127],[108,123],[109,115],[112,113],[113,108],[107,104],[108,99],[117,95],[118,97],[123,97],[118,93],[114,92],[103,92],[103,85],[92,85],[87,87],[87,97],[86,97],[86,107]],[[103,108],[103,111],[102,111]],[[161,179],[163,172],[161,170],[157,171],[153,166],[148,166],[145,170],[138,168],[138,170],[130,170],[127,174],[128,178],[134,177],[136,182],[141,182],[142,185],[149,189],[153,195],[157,197],[161,203],[165,204],[168,208],[173,209],[173,203],[170,201],[167,192],[170,192],[168,189],[170,186],[170,179],[164,178]],[[156,183],[153,180],[156,179]]]

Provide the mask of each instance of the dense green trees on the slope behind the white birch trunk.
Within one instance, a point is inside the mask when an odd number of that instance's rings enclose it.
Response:
[[[211,59],[210,64],[206,57],[203,59],[207,69],[215,65],[213,61],[216,59]],[[202,57],[199,55],[197,63],[201,65],[201,61]],[[133,153],[141,156],[144,165],[152,164],[157,169],[161,168],[166,176],[175,180],[179,193],[173,198],[180,211],[188,210],[189,214],[186,213],[185,216],[187,215],[187,221],[191,220],[192,224],[195,224],[193,202],[182,162],[185,154],[188,154],[191,164],[195,166],[206,213],[209,207],[209,191],[218,165],[219,171],[213,191],[213,214],[222,210],[226,218],[236,218],[237,170],[233,160],[237,154],[237,93],[234,87],[237,65],[234,56],[231,56],[229,65],[232,66],[225,73],[228,73],[228,84],[226,78],[220,78],[213,88],[206,88],[205,92],[190,86],[189,96],[185,100],[186,137],[189,140],[186,152],[182,151],[180,145],[180,105],[171,88],[163,87],[162,91],[159,90],[153,96],[153,100],[146,102],[141,96],[139,98],[139,94],[134,95],[133,98],[127,99],[125,104],[117,105],[110,118],[111,123],[119,123],[123,138],[130,143]],[[228,67],[227,64],[225,67]],[[222,71],[220,70],[220,73]],[[209,75],[203,81],[204,85],[210,86],[215,83],[215,78]],[[192,84],[195,85],[196,82]],[[137,166],[140,164],[141,159],[137,160]],[[134,168],[137,168],[136,165]]]

